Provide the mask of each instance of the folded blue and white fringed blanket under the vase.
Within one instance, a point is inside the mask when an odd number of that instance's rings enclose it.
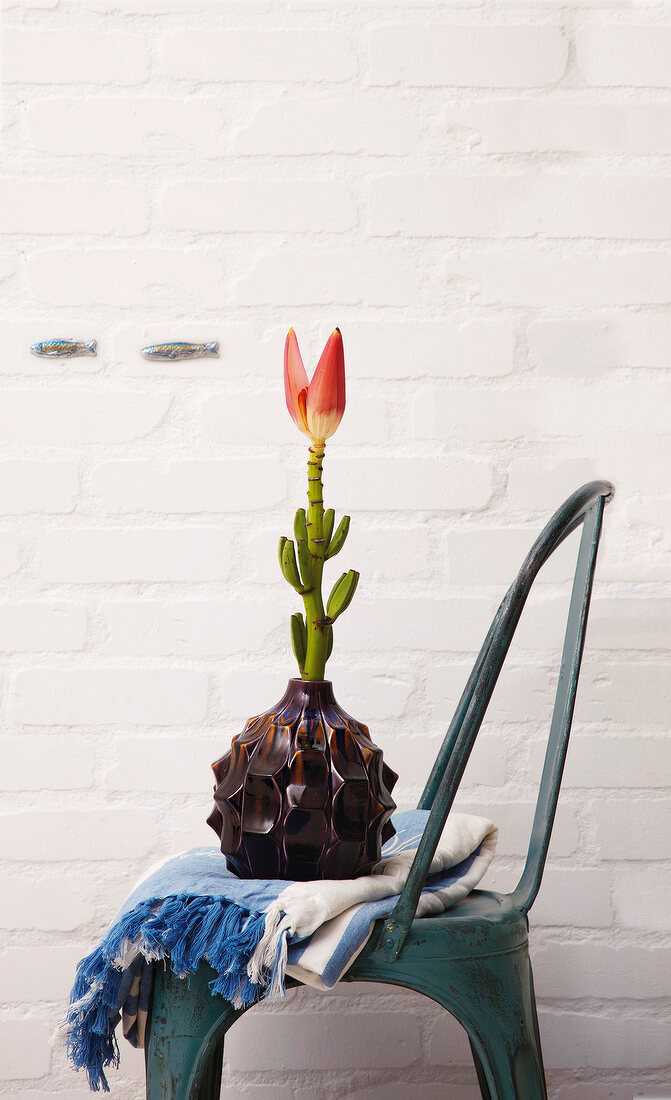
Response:
[[[290,976],[319,989],[342,977],[387,916],[413,864],[428,811],[394,816],[396,836],[373,873],[359,879],[287,882],[239,879],[217,848],[194,848],[154,869],[130,894],[102,942],[77,967],[64,1021],[68,1057],[94,1091],[109,1092],[105,1069],[119,1063],[114,1028],[144,1043],[152,965],[169,959],[180,976],[205,960],[212,994],[237,1007],[283,994]],[[450,814],[417,909],[441,913],[480,882],[497,828]]]

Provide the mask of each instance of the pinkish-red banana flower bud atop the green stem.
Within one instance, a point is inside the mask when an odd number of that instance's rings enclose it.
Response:
[[[314,442],[332,436],[344,413],[344,352],[340,329],[327,340],[312,381],[308,382],[298,340],[289,329],[284,345],[284,392],[295,425]]]

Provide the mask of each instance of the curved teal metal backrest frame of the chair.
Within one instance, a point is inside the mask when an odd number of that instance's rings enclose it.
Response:
[[[517,580],[506,593],[494,617],[419,801],[419,809],[430,810],[430,814],[406,886],[394,912],[385,922],[376,945],[376,949],[386,958],[398,958],[408,928],[413,923],[429,866],[531,585],[548,558],[582,524],[583,531],[569,606],[548,748],[531,826],[531,839],[525,869],[510,895],[514,903],[524,913],[529,911],[536,900],[548,855],[573,721],[603,512],[613,494],[614,488],[609,482],[596,481],[583,485],[564,501],[531,547]]]

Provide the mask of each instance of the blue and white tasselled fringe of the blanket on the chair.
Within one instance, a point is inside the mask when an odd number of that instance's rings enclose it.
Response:
[[[235,1008],[243,1008],[266,990],[284,993],[287,933],[274,932],[268,939],[266,915],[251,913],[223,898],[173,897],[143,901],[110,927],[102,943],[77,967],[63,1021],[68,1058],[76,1069],[86,1070],[94,1092],[109,1092],[105,1070],[119,1065],[114,1027],[123,959],[129,950],[140,950],[147,961],[169,958],[180,977],[193,974],[205,959],[217,975],[210,982],[212,994],[220,993]],[[270,941],[275,944],[274,956]],[[248,964],[261,943],[265,945],[263,966],[251,974]]]

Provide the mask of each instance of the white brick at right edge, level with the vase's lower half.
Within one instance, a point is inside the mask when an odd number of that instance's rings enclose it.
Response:
[[[671,759],[671,745],[668,750]],[[591,802],[603,859],[671,858],[671,801],[638,802],[622,795]]]

